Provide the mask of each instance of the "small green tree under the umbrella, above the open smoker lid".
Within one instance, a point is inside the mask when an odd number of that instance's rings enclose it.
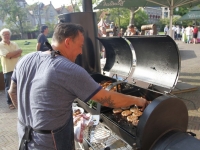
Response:
[[[141,9],[135,13],[135,23],[134,25],[140,30],[142,25],[148,24],[148,15]]]

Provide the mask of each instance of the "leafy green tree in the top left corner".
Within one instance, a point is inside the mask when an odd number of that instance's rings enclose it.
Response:
[[[26,8],[15,0],[0,0],[0,17],[6,24],[13,24],[23,35],[27,20]]]

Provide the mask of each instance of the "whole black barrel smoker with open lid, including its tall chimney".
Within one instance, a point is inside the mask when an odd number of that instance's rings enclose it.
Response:
[[[185,104],[168,94],[176,85],[180,70],[179,50],[169,36],[98,38],[106,50],[107,58],[103,70],[114,75],[107,77],[101,74],[100,69],[95,13],[91,11],[62,14],[59,19],[83,26],[85,46],[77,63],[85,68],[96,82],[112,80],[113,83],[107,90],[120,85],[118,92],[152,101],[140,117],[138,126],[131,126],[127,121],[114,116],[111,108],[102,107],[100,104],[96,108],[90,108],[88,104],[79,101],[81,107],[92,114],[100,114],[101,122],[133,149],[200,149],[200,141],[187,133],[188,111]],[[133,65],[135,56],[136,65]],[[135,80],[147,82],[148,88],[137,86]],[[157,90],[158,87],[162,87],[163,91]]]

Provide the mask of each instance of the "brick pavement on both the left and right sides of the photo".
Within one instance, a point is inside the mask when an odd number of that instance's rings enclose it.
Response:
[[[176,41],[181,56],[181,70],[179,80],[198,86],[197,91],[176,94],[188,108],[188,131],[197,134],[200,139],[200,44],[185,44]],[[16,150],[17,111],[9,110],[4,91],[0,91],[0,150]]]

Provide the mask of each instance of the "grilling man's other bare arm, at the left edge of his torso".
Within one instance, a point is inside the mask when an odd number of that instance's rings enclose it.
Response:
[[[17,84],[11,80],[10,89],[8,90],[13,105],[17,108]]]

